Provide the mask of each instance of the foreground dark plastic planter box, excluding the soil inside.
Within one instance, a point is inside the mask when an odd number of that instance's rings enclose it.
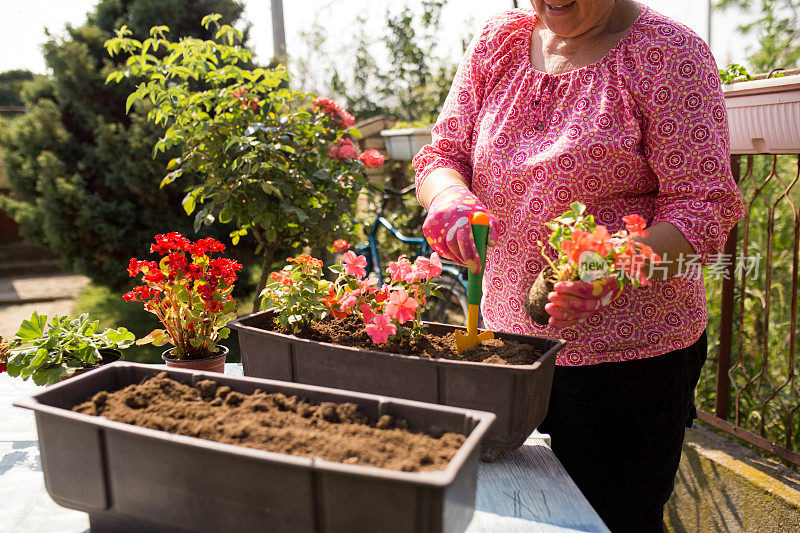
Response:
[[[479,442],[494,415],[368,394],[190,370],[314,402],[353,402],[371,419],[402,417],[467,435],[444,470],[398,472],[294,457],[174,435],[69,409],[163,369],[113,363],[15,403],[36,412],[45,485],[59,504],[89,513],[92,531],[460,532],[475,503]]]

